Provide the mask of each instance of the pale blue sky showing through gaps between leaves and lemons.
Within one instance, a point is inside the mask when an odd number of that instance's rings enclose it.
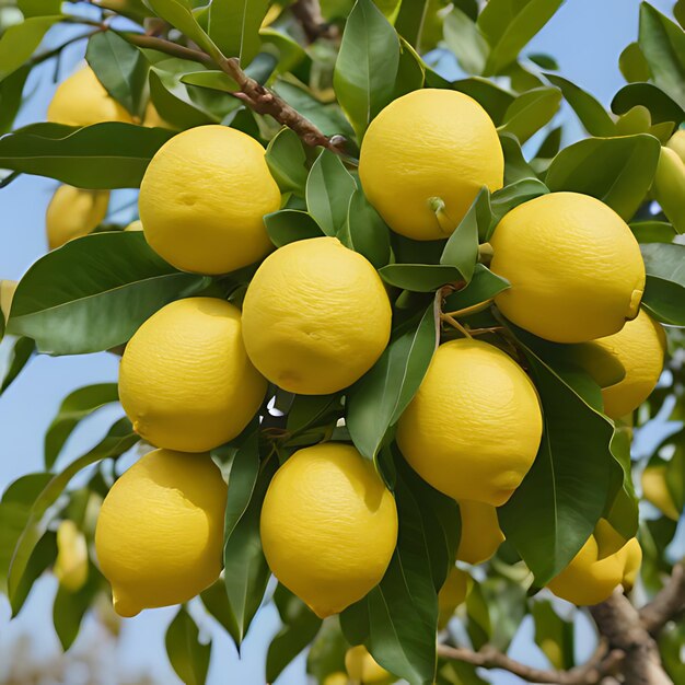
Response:
[[[658,9],[670,13],[671,1],[653,0]],[[637,37],[638,0],[568,0],[549,24],[531,43],[527,51],[554,55],[560,73],[593,93],[608,105],[613,94],[623,84],[618,71],[622,49]],[[63,30],[60,30],[63,31]],[[60,34],[63,37],[63,33]],[[55,34],[49,36],[54,40]],[[61,78],[68,74],[82,58],[83,45],[70,48],[62,63]],[[449,76],[449,74],[448,74]],[[25,92],[33,93],[22,112],[18,125],[43,120],[54,91],[50,69],[39,78],[30,80]],[[573,119],[573,115],[565,116]],[[574,121],[574,119],[573,119]],[[580,133],[573,123],[570,135]],[[26,268],[46,252],[44,216],[47,202],[57,184],[45,178],[22,176],[7,189],[0,190],[0,278],[19,279]],[[123,197],[124,195],[124,197]],[[126,194],[117,194],[113,206],[126,204]],[[130,212],[130,210],[128,210]],[[121,221],[128,214],[119,214]],[[38,471],[43,458],[43,434],[53,419],[61,398],[82,385],[116,381],[118,359],[100,353],[83,357],[34,359],[20,379],[0,397],[0,491],[19,476]],[[62,455],[70,461],[91,446],[118,416],[116,409],[106,409],[86,422],[70,439]],[[37,583],[32,597],[20,617],[8,625],[9,608],[0,599],[0,681],[2,680],[3,650],[20,634],[31,634],[35,655],[44,659],[58,653],[57,638],[51,627],[51,594],[55,582],[45,578]],[[126,623],[123,639],[117,647],[115,667],[123,673],[146,671],[162,683],[175,682],[164,654],[164,630],[174,609],[144,612]],[[94,626],[89,624],[94,630]],[[245,642],[243,658],[237,660],[230,640],[214,629],[211,620],[204,619],[202,628],[214,636],[214,650],[210,670],[210,685],[242,683],[258,685],[264,680],[266,647],[278,628],[272,609],[263,612],[253,625]],[[89,632],[81,636],[74,649],[86,649]],[[541,655],[529,647],[531,626],[524,625],[513,646],[513,655],[535,665],[545,665]],[[7,657],[5,657],[7,658]],[[5,662],[7,663],[7,662]],[[109,681],[107,681],[109,682]],[[283,674],[279,683],[298,685],[304,682],[303,660],[298,660]],[[498,683],[518,682],[510,676],[497,678]]]

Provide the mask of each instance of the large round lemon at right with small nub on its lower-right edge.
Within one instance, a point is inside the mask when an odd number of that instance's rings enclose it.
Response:
[[[511,283],[495,300],[514,324],[555,342],[618,333],[635,318],[645,264],[626,222],[588,195],[550,193],[500,221],[491,270]]]

